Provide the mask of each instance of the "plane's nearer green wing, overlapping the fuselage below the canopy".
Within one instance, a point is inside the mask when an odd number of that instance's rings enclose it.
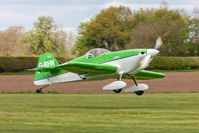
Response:
[[[58,65],[54,68],[78,74],[114,73],[118,69],[116,66],[112,65],[82,63],[82,62],[68,62],[66,64]]]

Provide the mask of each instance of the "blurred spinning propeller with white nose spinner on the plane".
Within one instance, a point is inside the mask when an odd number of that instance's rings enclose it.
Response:
[[[146,67],[149,66],[149,63],[151,62],[153,57],[159,53],[158,49],[162,46],[162,44],[163,41],[161,37],[158,37],[158,39],[156,40],[155,49],[147,49],[146,56],[140,62],[140,69],[145,69]]]

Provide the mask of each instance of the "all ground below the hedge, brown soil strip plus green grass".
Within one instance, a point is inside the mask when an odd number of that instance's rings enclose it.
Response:
[[[67,92],[61,94],[0,93],[0,133],[198,133],[199,72],[166,75],[138,81],[151,88],[143,96],[103,94],[112,93],[101,87],[113,80],[45,90]],[[1,75],[0,91],[35,91],[32,80],[33,75]]]

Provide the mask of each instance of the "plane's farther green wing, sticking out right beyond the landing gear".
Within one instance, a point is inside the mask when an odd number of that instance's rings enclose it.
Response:
[[[149,79],[158,79],[158,78],[164,78],[164,73],[158,73],[148,70],[140,70],[138,73],[136,73],[135,78],[138,80],[149,80]],[[125,75],[124,78],[126,79],[132,79],[131,76]]]

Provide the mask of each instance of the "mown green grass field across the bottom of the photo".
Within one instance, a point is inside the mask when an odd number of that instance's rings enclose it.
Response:
[[[0,94],[0,133],[198,133],[199,93]]]

